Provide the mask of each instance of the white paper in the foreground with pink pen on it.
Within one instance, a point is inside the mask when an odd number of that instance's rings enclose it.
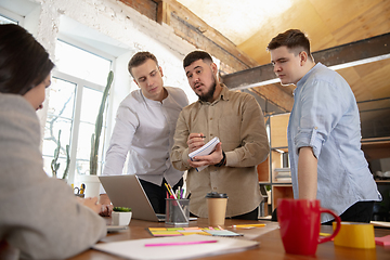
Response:
[[[156,246],[145,247],[146,244],[177,243],[177,242],[202,242],[218,240],[209,244]],[[259,246],[258,242],[244,240],[219,236],[188,235],[173,237],[154,237],[147,239],[122,240],[101,243],[93,246],[94,249],[113,253],[123,258],[140,260],[176,260],[199,258],[205,256],[222,255],[247,250]]]

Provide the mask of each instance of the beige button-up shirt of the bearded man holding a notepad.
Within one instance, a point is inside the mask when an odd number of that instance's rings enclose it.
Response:
[[[226,154],[226,165],[196,171],[188,162],[190,133],[203,133],[205,142],[218,136]],[[207,218],[206,194],[226,193],[226,217],[256,209],[262,200],[257,165],[265,160],[270,146],[261,107],[250,94],[230,91],[225,86],[213,103],[197,101],[179,115],[171,161],[178,170],[188,170],[190,210]]]

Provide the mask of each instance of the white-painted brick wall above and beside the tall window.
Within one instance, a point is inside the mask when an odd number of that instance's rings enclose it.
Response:
[[[136,51],[154,53],[162,67],[165,84],[182,88],[190,102],[197,100],[187,83],[182,68],[183,57],[195,48],[176,36],[173,29],[168,25],[159,25],[116,0],[30,1],[39,4],[40,13],[35,11],[31,16],[36,18],[26,20],[25,26],[28,29],[31,28],[30,31],[48,50],[53,61],[55,60],[55,40],[62,29],[62,15],[128,46],[129,52],[120,55],[115,66],[115,81],[112,90],[113,103],[110,106],[112,116],[109,118],[114,119],[119,102],[133,88],[136,88],[129,86],[132,80],[127,73],[127,63]],[[37,26],[34,26],[34,23]],[[46,120],[44,109],[39,113],[39,117],[43,127]]]

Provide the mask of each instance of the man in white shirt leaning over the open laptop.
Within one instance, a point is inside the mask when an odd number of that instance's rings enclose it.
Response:
[[[179,114],[188,100],[183,90],[164,87],[162,69],[152,53],[135,53],[128,68],[140,89],[119,105],[103,176],[121,174],[129,153],[128,173],[139,177],[156,213],[165,213],[165,183],[173,190],[183,185],[183,171],[172,167],[169,152]],[[100,202],[110,204],[104,193]]]

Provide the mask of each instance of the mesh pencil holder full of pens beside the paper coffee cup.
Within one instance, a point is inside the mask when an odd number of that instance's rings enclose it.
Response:
[[[166,198],[166,224],[187,225],[190,199]]]

